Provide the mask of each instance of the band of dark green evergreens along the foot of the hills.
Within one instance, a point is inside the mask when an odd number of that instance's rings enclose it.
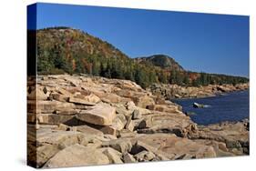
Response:
[[[108,78],[128,79],[143,88],[153,83],[177,85],[222,85],[246,83],[247,78],[230,75],[212,75],[188,71],[164,70],[153,65],[141,65],[132,59],[119,59],[102,55],[68,54],[67,49],[55,45],[51,49],[37,50],[37,71],[49,74],[88,74]]]

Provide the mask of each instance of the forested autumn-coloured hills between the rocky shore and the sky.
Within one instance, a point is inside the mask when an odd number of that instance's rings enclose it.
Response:
[[[28,43],[34,34],[28,31]],[[84,73],[132,80],[144,88],[153,83],[209,85],[249,81],[239,76],[189,72],[168,55],[129,58],[114,45],[69,27],[37,30],[36,44],[39,75]],[[28,50],[28,56],[32,56],[31,52]]]

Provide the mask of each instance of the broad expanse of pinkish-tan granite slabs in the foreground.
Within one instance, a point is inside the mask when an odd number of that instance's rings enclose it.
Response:
[[[198,126],[128,80],[29,78],[27,123],[28,163],[36,167],[249,155],[249,120]]]

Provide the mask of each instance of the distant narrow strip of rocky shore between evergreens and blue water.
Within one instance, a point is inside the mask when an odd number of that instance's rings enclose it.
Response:
[[[180,86],[154,84],[149,87],[149,91],[155,96],[164,96],[166,99],[172,98],[201,98],[207,96],[218,96],[234,91],[249,89],[249,83],[237,85],[206,85],[206,86]]]

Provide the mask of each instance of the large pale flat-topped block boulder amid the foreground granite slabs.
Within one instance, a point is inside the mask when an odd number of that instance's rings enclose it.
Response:
[[[81,111],[77,119],[99,126],[110,126],[116,116],[116,108],[107,104],[98,104],[90,110]]]

